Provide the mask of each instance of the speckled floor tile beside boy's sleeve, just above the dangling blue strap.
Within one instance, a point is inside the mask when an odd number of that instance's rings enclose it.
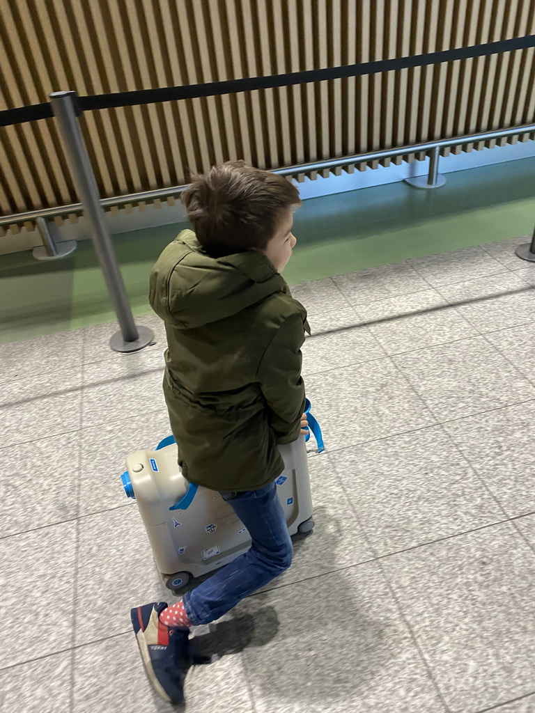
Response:
[[[307,378],[327,450],[429,426],[434,418],[389,359]]]

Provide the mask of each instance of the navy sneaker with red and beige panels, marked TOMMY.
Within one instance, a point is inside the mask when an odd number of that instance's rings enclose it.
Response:
[[[190,630],[167,627],[160,619],[166,602],[153,602],[130,610],[130,618],[147,676],[154,689],[170,703],[184,702],[184,678],[193,664],[210,662],[195,653]]]

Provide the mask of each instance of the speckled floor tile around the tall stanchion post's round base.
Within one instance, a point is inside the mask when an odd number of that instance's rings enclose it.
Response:
[[[153,344],[139,352],[131,354],[123,354],[114,352],[109,345],[112,334],[115,334],[118,329],[117,322],[108,322],[107,324],[97,324],[95,327],[87,327],[83,329],[83,361],[84,364],[93,364],[95,362],[106,361],[107,359],[137,359],[140,354],[151,354],[157,359],[162,359],[163,352],[167,348],[167,339],[165,337],[165,325],[157,314],[146,314],[143,317],[136,317],[138,327],[149,327],[153,330]]]

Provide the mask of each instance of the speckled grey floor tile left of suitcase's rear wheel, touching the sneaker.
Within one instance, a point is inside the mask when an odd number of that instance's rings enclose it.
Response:
[[[138,508],[88,515],[79,523],[77,644],[128,631],[131,607],[170,595]]]

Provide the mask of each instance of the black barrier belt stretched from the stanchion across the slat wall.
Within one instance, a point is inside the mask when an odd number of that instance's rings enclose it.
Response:
[[[327,67],[325,69],[309,69],[302,72],[275,74],[267,77],[245,77],[230,79],[221,82],[207,82],[204,84],[190,84],[178,87],[162,87],[158,89],[141,89],[137,91],[118,92],[113,94],[96,94],[94,96],[78,97],[78,108],[81,111],[94,109],[109,109],[118,106],[136,106],[138,104],[151,104],[162,101],[178,101],[180,99],[194,99],[201,96],[216,96],[221,94],[235,94],[256,89],[272,89],[275,87],[292,86],[294,84],[307,84],[329,79],[344,77],[357,77],[365,74],[377,74],[397,69],[423,67],[430,64],[440,64],[474,57],[484,57],[491,54],[512,52],[519,49],[535,47],[535,35],[514,37],[509,40],[499,40],[472,47],[459,47],[441,52],[419,54],[411,57],[394,59],[381,59],[375,62],[349,64],[342,67]],[[6,126],[24,121],[33,121],[48,118],[52,115],[50,104],[36,104],[34,106],[9,109],[0,112],[0,126]]]

